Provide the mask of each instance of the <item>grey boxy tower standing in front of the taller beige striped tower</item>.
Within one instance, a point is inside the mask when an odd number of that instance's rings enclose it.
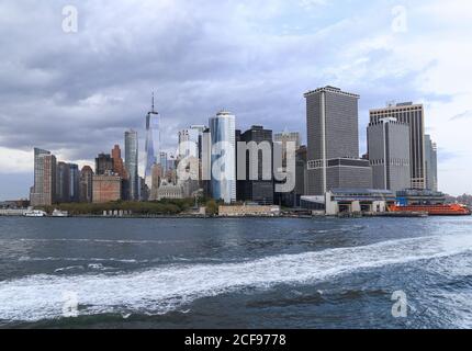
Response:
[[[382,118],[368,127],[369,161],[374,189],[397,192],[409,189],[409,126]]]

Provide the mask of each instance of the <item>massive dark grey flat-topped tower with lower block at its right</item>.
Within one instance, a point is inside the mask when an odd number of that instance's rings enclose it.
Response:
[[[372,188],[372,169],[359,159],[359,95],[325,87],[305,93],[307,195],[336,188]]]

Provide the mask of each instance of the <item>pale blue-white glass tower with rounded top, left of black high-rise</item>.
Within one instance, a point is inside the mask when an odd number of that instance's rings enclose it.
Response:
[[[236,201],[236,117],[221,111],[210,118],[211,193],[225,203]]]

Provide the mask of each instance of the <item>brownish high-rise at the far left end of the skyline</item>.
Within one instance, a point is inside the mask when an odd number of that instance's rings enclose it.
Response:
[[[56,201],[56,157],[50,151],[35,148],[32,206],[49,206]]]

